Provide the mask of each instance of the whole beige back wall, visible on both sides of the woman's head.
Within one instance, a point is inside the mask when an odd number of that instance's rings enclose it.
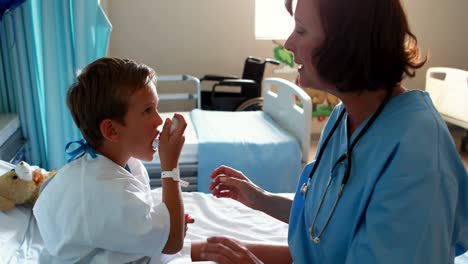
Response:
[[[424,88],[428,67],[468,70],[466,0],[403,0],[410,25],[429,62],[408,88]],[[244,59],[273,55],[275,45],[256,40],[255,0],[102,0],[113,25],[109,55],[130,57],[159,74],[206,73],[240,75]],[[293,74],[266,76],[293,80]]]

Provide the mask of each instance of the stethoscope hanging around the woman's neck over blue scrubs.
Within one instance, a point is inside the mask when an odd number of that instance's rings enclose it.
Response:
[[[334,165],[332,167],[332,171],[338,164],[344,162],[345,160],[347,161],[347,166],[345,168],[345,174],[343,176],[343,179],[341,180],[341,186],[340,186],[340,189],[338,191],[338,195],[336,197],[336,200],[333,203],[333,207],[332,207],[332,209],[330,211],[330,214],[327,216],[327,219],[325,220],[325,224],[324,224],[322,230],[318,233],[318,235],[315,235],[314,234],[315,221],[317,220],[317,216],[318,216],[318,214],[320,212],[320,209],[322,208],[323,201],[325,200],[325,196],[326,196],[326,194],[328,192],[328,189],[330,187],[330,184],[332,182],[333,177],[330,175],[330,178],[328,179],[327,185],[325,186],[325,191],[323,192],[323,194],[322,194],[322,196],[320,198],[318,208],[315,211],[314,218],[312,220],[312,224],[311,224],[311,226],[309,228],[310,238],[311,238],[312,241],[314,241],[314,243],[316,243],[316,244],[320,243],[320,238],[322,237],[323,231],[325,231],[325,228],[328,226],[328,223],[330,222],[330,219],[331,219],[331,217],[333,215],[333,212],[336,209],[338,201],[340,200],[340,197],[343,194],[343,190],[346,187],[346,184],[348,183],[348,180],[349,180],[349,177],[350,177],[350,174],[351,174],[351,160],[352,160],[351,159],[351,154],[353,152],[354,146],[356,146],[357,142],[369,130],[369,127],[374,123],[374,121],[377,119],[377,117],[381,114],[381,112],[384,109],[385,105],[390,100],[390,96],[392,94],[392,91],[393,91],[393,89],[388,89],[387,90],[387,94],[385,95],[385,98],[383,99],[382,103],[379,105],[379,108],[377,109],[377,111],[375,111],[375,113],[369,119],[369,122],[366,123],[364,128],[356,136],[356,139],[353,141],[351,146],[349,145],[349,140],[348,140],[347,151],[343,155],[341,155],[338,158],[338,160],[334,163]],[[304,196],[304,199],[307,196],[307,192],[309,190],[309,186],[310,186],[310,183],[311,183],[311,180],[312,180],[312,176],[314,175],[315,171],[317,170],[317,168],[318,168],[318,166],[320,164],[320,161],[322,160],[323,152],[326,149],[326,147],[328,145],[328,142],[330,141],[331,137],[333,136],[336,129],[338,128],[338,125],[341,123],[341,120],[343,119],[343,116],[344,116],[345,112],[346,112],[346,109],[343,108],[343,110],[341,111],[338,119],[336,120],[335,124],[333,125],[330,133],[328,134],[327,138],[325,139],[322,147],[320,148],[319,154],[317,155],[314,167],[312,168],[312,170],[311,170],[311,172],[309,174],[309,178],[307,179],[307,182],[305,182],[301,186],[301,194]],[[349,134],[348,134],[348,137],[349,137]]]

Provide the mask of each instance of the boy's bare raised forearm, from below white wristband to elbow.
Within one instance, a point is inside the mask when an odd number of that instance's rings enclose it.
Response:
[[[179,182],[170,178],[162,179],[162,186],[162,200],[169,210],[171,225],[163,253],[174,254],[180,251],[184,244],[185,220],[182,191]]]

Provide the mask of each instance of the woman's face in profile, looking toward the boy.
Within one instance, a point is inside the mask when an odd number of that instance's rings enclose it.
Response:
[[[325,34],[319,14],[319,0],[298,0],[294,13],[295,27],[284,47],[294,53],[299,65],[299,85],[304,88],[329,90],[317,72],[313,55],[323,43]]]

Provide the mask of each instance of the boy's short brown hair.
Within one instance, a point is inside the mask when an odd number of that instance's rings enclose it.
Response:
[[[103,142],[104,119],[125,125],[129,97],[150,82],[156,85],[155,71],[129,59],[101,58],[86,66],[68,90],[67,105],[90,147]]]

